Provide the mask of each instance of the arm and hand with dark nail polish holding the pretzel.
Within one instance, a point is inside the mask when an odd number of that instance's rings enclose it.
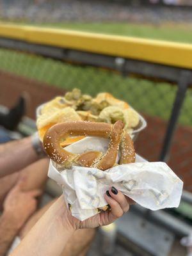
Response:
[[[63,195],[60,196],[22,240],[13,255],[61,255],[75,230],[109,225],[129,210],[129,199],[115,188],[109,189],[104,196],[111,211],[100,212],[85,221],[74,218],[63,200]],[[42,232],[44,236],[41,236]],[[32,251],[29,250],[29,244]]]

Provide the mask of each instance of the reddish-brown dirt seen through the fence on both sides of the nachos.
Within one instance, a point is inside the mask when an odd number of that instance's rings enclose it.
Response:
[[[64,90],[44,83],[18,77],[13,74],[0,72],[0,104],[13,106],[19,95],[28,95],[27,115],[35,119],[35,109],[38,105],[52,99],[56,95],[63,95]],[[135,143],[136,151],[149,161],[158,161],[166,131],[166,122],[157,117],[147,116],[147,129],[141,132]],[[184,180],[184,188],[192,191],[192,128],[178,127],[173,140],[168,164],[179,177]]]

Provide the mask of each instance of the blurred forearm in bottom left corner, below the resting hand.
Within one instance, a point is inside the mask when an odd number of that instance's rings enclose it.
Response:
[[[14,237],[19,232],[20,227],[9,214],[2,214],[0,217],[0,256],[6,255]]]

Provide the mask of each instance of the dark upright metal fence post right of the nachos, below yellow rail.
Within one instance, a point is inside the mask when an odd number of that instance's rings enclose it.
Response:
[[[166,134],[164,136],[163,147],[161,154],[159,156],[159,161],[168,161],[169,152],[172,146],[172,140],[177,127],[177,121],[180,114],[180,109],[185,99],[186,92],[188,90],[189,83],[192,78],[192,72],[190,70],[182,70],[180,72],[180,79],[178,81],[177,95],[175,97],[175,102],[172,108],[172,114],[168,122],[168,127],[166,129]]]

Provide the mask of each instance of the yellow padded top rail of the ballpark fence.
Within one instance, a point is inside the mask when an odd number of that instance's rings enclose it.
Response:
[[[56,47],[56,49],[72,49],[160,65],[192,68],[191,44],[13,24],[0,24],[0,36],[19,40],[23,43],[22,46],[24,43],[31,44],[31,46],[35,44],[39,47],[41,45],[42,47]],[[4,46],[8,47],[8,45]],[[27,49],[35,52],[35,49],[29,49],[29,47]],[[44,55],[45,52],[42,54]],[[40,54],[40,52],[37,53]],[[52,54],[53,58],[66,58],[65,51],[58,51],[59,56],[54,52],[48,51],[47,53]]]

